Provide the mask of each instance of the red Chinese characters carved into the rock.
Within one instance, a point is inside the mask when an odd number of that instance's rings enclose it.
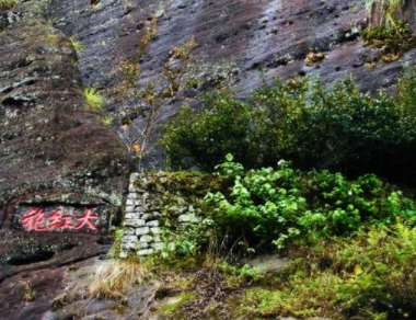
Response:
[[[85,209],[81,215],[69,215],[62,209],[45,213],[43,208],[30,208],[20,219],[26,231],[60,231],[88,229],[96,231],[99,215]]]

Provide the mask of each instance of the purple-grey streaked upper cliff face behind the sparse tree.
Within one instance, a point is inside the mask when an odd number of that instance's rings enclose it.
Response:
[[[158,36],[142,62],[143,81],[153,79],[169,52],[190,37],[199,47],[194,52],[207,72],[236,70],[236,90],[246,95],[264,82],[296,75],[321,75],[326,83],[353,75],[363,90],[392,85],[404,64],[413,64],[416,50],[402,59],[372,64],[377,52],[363,46],[359,37],[367,21],[362,0],[54,0],[50,14],[56,26],[84,45],[79,52],[80,69],[88,87],[115,85],[124,59],[136,55],[139,36],[147,22],[158,16]],[[308,64],[315,50],[323,59]],[[209,83],[203,85],[209,88]],[[104,90],[105,91],[105,90]],[[134,105],[107,92],[108,112]],[[178,105],[165,105],[160,123],[175,114]],[[125,142],[134,139],[143,122],[138,118],[128,130],[119,127]],[[150,161],[158,165],[160,158]]]

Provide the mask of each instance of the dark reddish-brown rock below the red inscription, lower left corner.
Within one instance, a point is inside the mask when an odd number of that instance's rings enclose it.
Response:
[[[0,229],[0,318],[44,319],[54,298],[65,290],[63,275],[77,262],[105,254],[108,245],[99,236],[67,233],[26,233]],[[35,293],[24,300],[24,287]]]

